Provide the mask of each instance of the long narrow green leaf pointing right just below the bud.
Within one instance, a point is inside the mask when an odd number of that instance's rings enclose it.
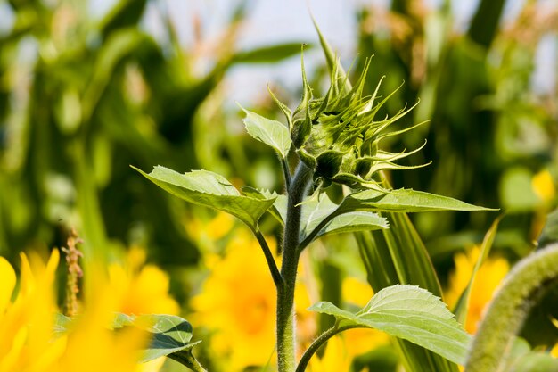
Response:
[[[380,191],[365,190],[349,194],[340,207],[341,211],[495,211],[461,202],[447,196],[401,188]]]

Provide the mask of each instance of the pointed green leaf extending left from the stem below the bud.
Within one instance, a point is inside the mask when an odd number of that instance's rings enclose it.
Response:
[[[132,167],[155,185],[186,202],[225,211],[241,219],[251,229],[258,229],[258,219],[275,202],[275,197],[258,199],[241,195],[226,178],[208,170],[180,174],[157,166],[150,174]]]

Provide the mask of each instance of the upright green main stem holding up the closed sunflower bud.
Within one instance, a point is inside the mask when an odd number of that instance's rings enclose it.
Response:
[[[300,162],[289,187],[287,219],[283,236],[281,276],[284,285],[277,288],[277,363],[279,372],[295,370],[294,287],[297,279],[300,243],[300,203],[307,194],[312,170]]]

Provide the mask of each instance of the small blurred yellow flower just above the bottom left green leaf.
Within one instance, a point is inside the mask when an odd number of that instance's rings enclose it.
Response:
[[[119,304],[114,311],[125,314],[173,314],[180,308],[168,294],[168,274],[157,266],[144,264],[145,251],[132,247],[125,266],[109,265],[112,291],[119,293]]]

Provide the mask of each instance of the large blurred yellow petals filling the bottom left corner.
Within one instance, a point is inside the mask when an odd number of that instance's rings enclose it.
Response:
[[[148,342],[136,328],[112,332],[108,325],[121,303],[119,293],[97,270],[85,306],[69,330],[55,335],[55,273],[60,260],[53,251],[45,264],[37,255],[21,254],[19,291],[12,294],[16,277],[0,258],[0,372],[121,372],[155,371],[138,363]],[[14,297],[12,301],[11,298]],[[146,368],[152,369],[146,369]],[[155,366],[157,367],[157,366]]]

